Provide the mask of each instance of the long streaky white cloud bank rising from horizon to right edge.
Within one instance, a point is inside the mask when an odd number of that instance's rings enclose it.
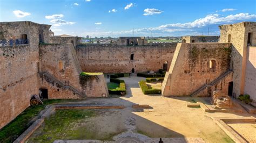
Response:
[[[194,20],[193,22],[188,23],[173,23],[160,25],[158,27],[146,27],[146,28],[137,28],[134,30],[126,30],[126,31],[114,31],[115,35],[124,35],[129,36],[132,35],[133,31],[136,35],[150,35],[152,32],[154,35],[199,35],[201,32],[205,30],[205,27],[211,27],[212,32],[210,31],[210,35],[219,34],[218,26],[223,24],[232,24],[237,22],[242,22],[245,20],[256,19],[255,14],[249,13],[238,13],[236,15],[228,15],[222,16],[219,14],[207,15],[204,18],[199,18]],[[214,32],[213,32],[214,31]],[[109,36],[112,35],[112,32],[86,32],[89,35],[93,36]]]

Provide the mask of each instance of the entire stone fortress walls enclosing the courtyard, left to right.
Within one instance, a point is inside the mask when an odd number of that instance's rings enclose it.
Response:
[[[96,93],[92,89],[97,84],[106,88],[103,75],[98,76],[102,80],[83,87],[79,83],[82,71],[138,73],[158,71],[167,63],[162,94],[183,96],[233,69],[234,73],[198,95],[211,95],[215,89],[227,93],[233,81],[233,95],[250,94],[255,100],[255,25],[220,26],[220,43],[199,43],[212,41],[200,38],[192,43],[190,37],[186,41],[191,43],[177,45],[147,44],[141,37],[123,37],[117,44],[80,44],[77,37],[50,37],[51,25],[0,23],[0,105],[4,107],[0,109],[0,128],[26,109],[39,90],[48,90],[48,98],[102,97],[101,92],[107,96],[105,90]]]

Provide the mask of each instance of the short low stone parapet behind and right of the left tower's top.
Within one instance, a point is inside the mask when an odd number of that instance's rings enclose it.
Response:
[[[60,37],[60,36],[51,36],[50,42],[51,44],[66,44],[66,43],[72,43],[73,46],[77,46],[80,43],[80,40],[82,38],[80,37]]]

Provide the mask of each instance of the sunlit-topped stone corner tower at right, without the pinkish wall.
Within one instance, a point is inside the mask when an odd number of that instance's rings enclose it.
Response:
[[[256,23],[242,22],[232,25],[221,25],[220,42],[231,42],[233,44],[231,53],[231,68],[234,70],[233,76],[233,94],[238,97],[244,94],[245,88],[245,73],[247,59],[247,38],[248,32],[252,32],[252,46],[256,45]],[[230,41],[228,38],[230,35]]]

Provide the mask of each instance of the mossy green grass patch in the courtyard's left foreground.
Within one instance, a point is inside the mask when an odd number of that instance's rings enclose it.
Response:
[[[57,139],[96,139],[96,134],[90,132],[86,127],[80,126],[84,119],[93,116],[96,116],[96,111],[92,109],[57,110],[54,115],[45,119],[44,124],[32,135],[29,142],[53,142]]]

